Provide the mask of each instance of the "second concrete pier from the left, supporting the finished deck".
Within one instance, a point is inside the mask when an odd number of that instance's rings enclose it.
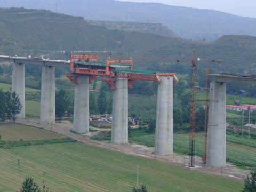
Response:
[[[55,67],[51,66],[42,68],[40,122],[55,123]]]

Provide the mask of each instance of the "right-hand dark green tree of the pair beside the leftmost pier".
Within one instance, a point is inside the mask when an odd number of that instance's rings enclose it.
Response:
[[[6,101],[6,114],[7,114],[7,119],[12,119],[15,121],[16,116],[20,113],[22,105],[20,103],[19,96],[15,92],[7,92],[7,99]]]

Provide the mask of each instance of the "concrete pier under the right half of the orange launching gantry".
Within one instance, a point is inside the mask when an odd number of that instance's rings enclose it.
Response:
[[[128,143],[128,79],[116,78],[113,90],[111,143]]]

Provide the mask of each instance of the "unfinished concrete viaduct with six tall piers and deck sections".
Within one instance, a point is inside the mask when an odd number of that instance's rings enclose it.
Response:
[[[41,115],[42,124],[55,123],[55,67],[70,67],[67,60],[29,59],[0,56],[0,62],[13,62],[12,91],[22,104],[18,118],[25,118],[25,63],[42,66]],[[226,166],[226,82],[255,82],[256,78],[213,74],[210,85],[209,121],[207,130],[206,166]],[[155,76],[156,77],[156,76]],[[154,77],[154,78],[155,78]],[[74,131],[89,132],[89,83],[90,75],[69,76],[75,82]],[[150,77],[151,78],[151,77]],[[157,113],[155,153],[173,154],[173,81],[175,75],[157,76]],[[111,143],[128,142],[128,87],[131,79],[111,77],[105,79],[113,88],[113,121]]]

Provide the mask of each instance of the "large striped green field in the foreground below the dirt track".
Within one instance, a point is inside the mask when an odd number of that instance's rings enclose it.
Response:
[[[0,191],[19,189],[27,174],[51,191],[131,191],[139,181],[149,191],[239,191],[242,183],[82,143],[1,150]],[[20,159],[20,165],[17,164]]]

